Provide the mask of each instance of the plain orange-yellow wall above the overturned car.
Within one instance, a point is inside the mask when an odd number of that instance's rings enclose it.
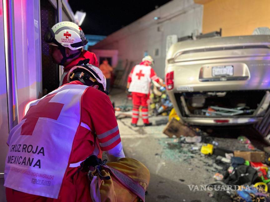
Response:
[[[195,0],[202,3],[202,32],[222,28],[222,36],[251,35],[257,27],[270,27],[269,0]]]

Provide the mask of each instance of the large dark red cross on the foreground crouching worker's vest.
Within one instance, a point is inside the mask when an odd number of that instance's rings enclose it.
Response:
[[[22,119],[26,120],[22,124],[21,135],[32,135],[38,118],[40,117],[52,118],[54,120],[58,119],[64,104],[49,102],[55,95],[56,93],[48,95],[44,99],[40,100],[36,105],[29,108],[25,117]]]

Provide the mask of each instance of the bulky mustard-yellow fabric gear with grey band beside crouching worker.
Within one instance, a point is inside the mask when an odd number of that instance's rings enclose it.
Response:
[[[150,172],[146,166],[141,162],[131,158],[121,158],[116,162],[108,162],[107,166],[124,173],[125,175],[132,178],[138,186],[142,186],[143,194],[148,187],[150,181]],[[127,189],[110,171],[103,168],[100,173],[103,177],[98,174],[95,170],[92,172],[93,177],[91,181],[91,197],[98,197],[98,201],[101,202],[137,202],[140,201],[137,195]],[[110,176],[110,179],[104,177]],[[121,177],[120,177],[121,178]],[[128,184],[130,184],[127,178],[122,177]],[[136,186],[133,186],[136,190]],[[95,194],[95,193],[100,194]],[[92,195],[93,194],[93,195]],[[100,197],[99,197],[100,196]]]

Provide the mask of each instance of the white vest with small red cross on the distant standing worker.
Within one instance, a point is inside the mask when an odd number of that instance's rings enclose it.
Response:
[[[136,65],[131,76],[129,92],[148,94],[151,84],[151,66]]]

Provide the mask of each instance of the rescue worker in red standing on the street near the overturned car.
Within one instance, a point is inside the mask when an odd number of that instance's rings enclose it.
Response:
[[[136,65],[128,75],[127,88],[132,92],[133,113],[131,125],[136,127],[139,119],[139,107],[142,106],[142,117],[144,126],[151,126],[148,120],[148,99],[150,92],[151,80],[162,84],[160,78],[153,70],[151,65],[154,64],[153,58],[145,56],[139,65]]]

